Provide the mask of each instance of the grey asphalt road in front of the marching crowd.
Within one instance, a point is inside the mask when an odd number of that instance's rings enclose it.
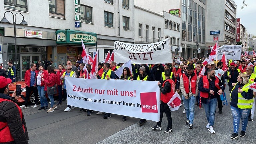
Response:
[[[228,88],[225,90],[227,94]],[[228,100],[230,98],[228,97]],[[206,128],[207,119],[204,109],[195,107],[194,128],[189,129],[186,122],[186,115],[182,114],[183,106],[178,111],[172,112],[173,132],[164,133],[167,127],[167,119],[164,115],[162,130],[154,131],[152,126],[154,121],[147,121],[143,126],[139,126],[137,118],[127,118],[122,122],[122,116],[111,115],[109,119],[103,119],[103,115],[96,115],[93,112],[87,116],[87,112],[80,112],[80,108],[65,112],[66,101],[52,113],[37,108],[23,109],[30,144],[186,144],[186,143],[256,143],[254,131],[255,121],[249,121],[246,136],[233,140],[233,118],[230,105],[223,106],[223,113],[218,113],[216,109],[214,130],[211,134]],[[255,117],[254,117],[255,118]],[[256,119],[255,119],[256,120]],[[241,131],[241,124],[239,133]]]

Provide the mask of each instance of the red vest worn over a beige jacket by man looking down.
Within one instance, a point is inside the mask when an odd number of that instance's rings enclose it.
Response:
[[[189,78],[185,74],[182,74],[182,78],[183,78],[183,83],[184,83],[184,88],[185,88],[186,93],[187,94],[189,93],[189,87],[191,86],[192,94],[196,94],[196,79],[197,79],[196,73],[194,76],[192,76],[190,78],[190,81],[189,81]]]

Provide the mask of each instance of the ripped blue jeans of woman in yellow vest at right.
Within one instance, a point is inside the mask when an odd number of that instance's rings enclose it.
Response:
[[[242,131],[245,131],[248,124],[248,115],[251,109],[240,109],[233,106],[230,107],[233,115],[234,133],[238,133],[240,119],[242,119]]]

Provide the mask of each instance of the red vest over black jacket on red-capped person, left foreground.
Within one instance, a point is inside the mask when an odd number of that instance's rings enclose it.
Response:
[[[11,100],[0,98],[0,103],[3,102],[3,101],[13,102]],[[17,106],[17,108],[19,110],[20,119],[22,121],[22,110],[21,110],[21,108],[17,104],[16,104],[16,106]],[[25,126],[24,126],[24,124],[22,125],[22,127],[23,127],[23,130],[24,130],[24,133],[25,133]],[[13,139],[13,137],[11,135],[8,123],[7,122],[0,122],[0,143],[6,143],[6,142],[12,142],[12,141],[14,141],[14,139]]]

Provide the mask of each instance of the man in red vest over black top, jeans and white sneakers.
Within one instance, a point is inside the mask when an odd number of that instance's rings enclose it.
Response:
[[[205,115],[208,121],[205,128],[207,128],[210,133],[215,133],[213,125],[217,106],[217,96],[224,92],[225,87],[222,85],[221,80],[215,76],[214,69],[208,69],[207,75],[200,78],[198,90],[200,91],[201,102],[204,105]]]

